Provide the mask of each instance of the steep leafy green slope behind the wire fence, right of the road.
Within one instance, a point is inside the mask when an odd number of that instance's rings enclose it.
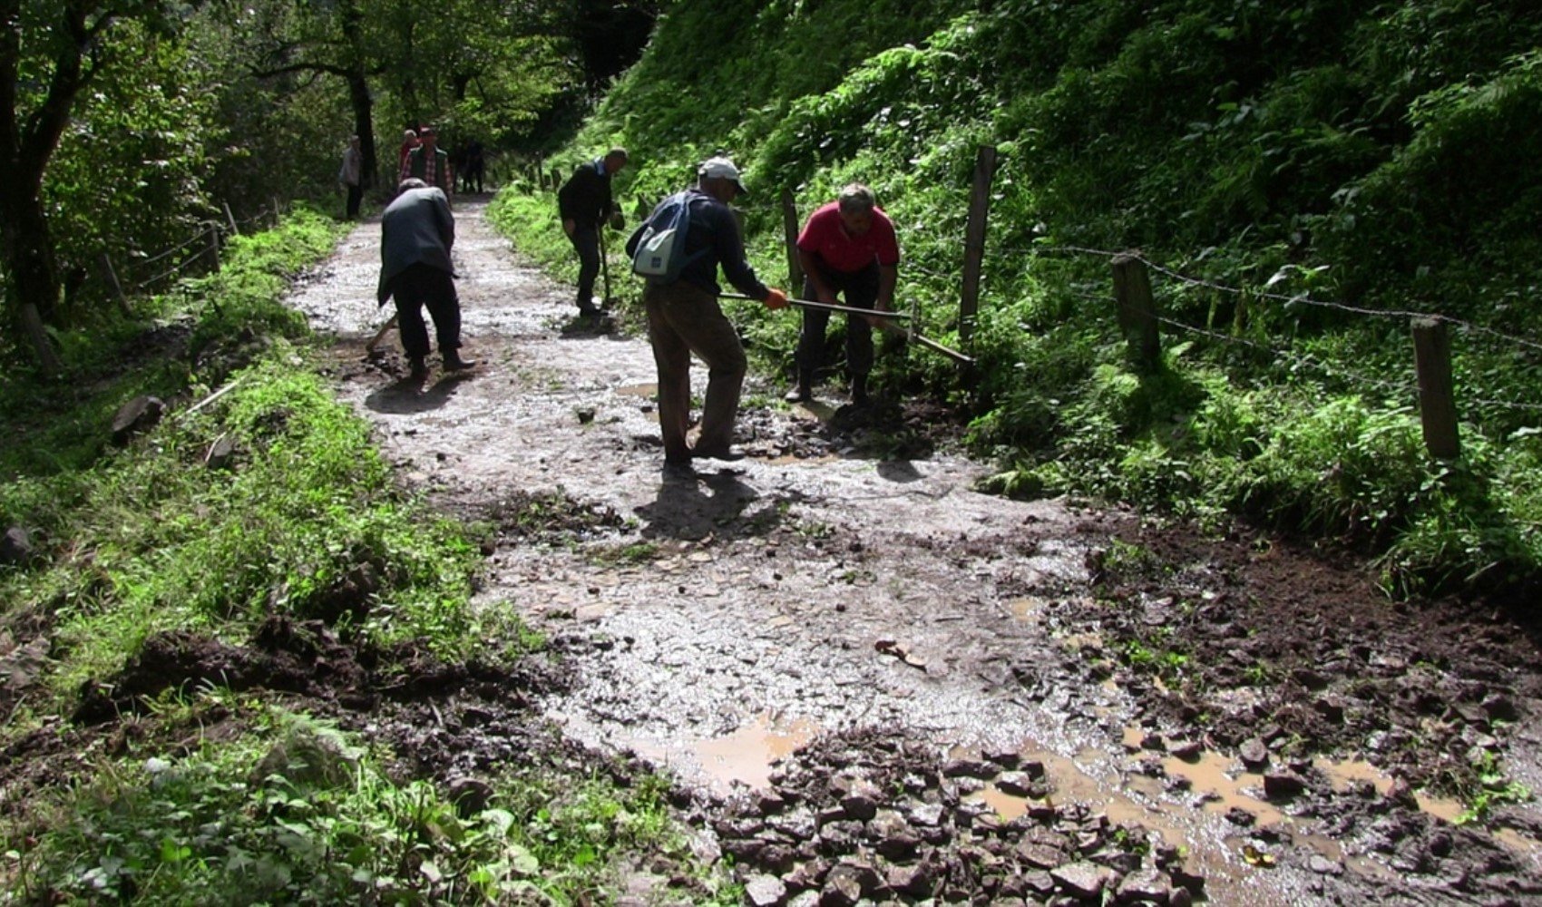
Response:
[[[1392,585],[1513,586],[1542,558],[1537,46],[1525,0],[675,3],[569,153],[625,143],[629,213],[732,154],[773,278],[779,193],[868,182],[902,304],[959,341],[992,145],[978,381],[882,367],[961,395],[1002,491],[1244,512],[1365,543]],[[1155,370],[1115,324],[1123,250],[1164,268]],[[1416,312],[1449,319],[1457,460],[1422,440]],[[785,367],[793,319],[742,316]]]

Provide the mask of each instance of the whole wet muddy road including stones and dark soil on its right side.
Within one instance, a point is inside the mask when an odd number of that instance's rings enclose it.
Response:
[[[1542,896],[1530,805],[1459,827],[1414,790],[1451,753],[1542,782],[1527,632],[1283,543],[981,495],[945,441],[754,375],[748,457],[665,474],[646,338],[574,324],[480,201],[456,217],[472,373],[407,381],[395,333],[364,353],[378,224],[293,304],[404,481],[495,526],[483,606],[577,669],[546,714],[695,788],[746,901]]]

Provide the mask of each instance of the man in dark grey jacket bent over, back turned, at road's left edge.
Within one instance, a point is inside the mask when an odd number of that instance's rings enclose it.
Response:
[[[433,318],[433,333],[439,356],[450,372],[470,369],[476,362],[463,359],[461,301],[455,295],[455,267],[450,248],[455,245],[455,216],[444,191],[421,179],[401,182],[396,199],[381,216],[381,281],[376,299],[396,301],[396,322],[401,347],[412,366],[412,376],[429,375],[429,329],[423,322],[423,307]]]

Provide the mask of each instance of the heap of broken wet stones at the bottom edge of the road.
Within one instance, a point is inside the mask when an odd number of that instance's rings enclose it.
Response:
[[[1004,819],[987,788],[1021,797]],[[873,730],[799,751],[769,788],[722,804],[745,902],[1170,904],[1204,893],[1178,848],[1055,802],[1044,767],[1001,751],[939,757]]]

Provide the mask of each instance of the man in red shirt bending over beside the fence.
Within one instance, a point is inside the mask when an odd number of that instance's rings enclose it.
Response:
[[[840,196],[808,216],[797,236],[797,261],[803,267],[803,298],[836,304],[845,295],[853,309],[890,312],[899,276],[899,242],[894,224],[877,207],[873,190],[854,182]],[[873,325],[876,319],[848,316],[847,373],[851,376],[851,403],[867,403],[867,376],[873,370]],[[823,364],[825,329],[830,312],[803,309],[803,330],[797,339],[797,384],[788,390],[790,403],[813,400],[814,370]]]

